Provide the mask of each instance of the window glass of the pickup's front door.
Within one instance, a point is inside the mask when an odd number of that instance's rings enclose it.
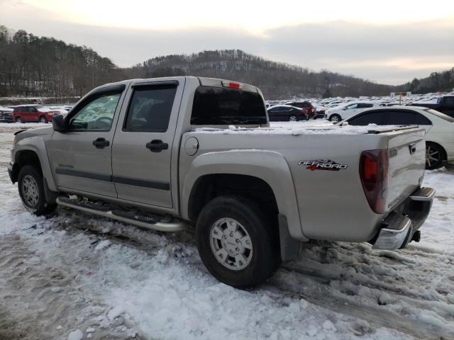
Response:
[[[122,92],[94,95],[70,119],[72,131],[109,131]]]

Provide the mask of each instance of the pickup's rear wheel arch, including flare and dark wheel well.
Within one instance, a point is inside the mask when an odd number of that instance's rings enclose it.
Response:
[[[206,199],[216,192],[216,183],[232,181],[235,184],[231,190],[236,193],[238,186],[243,186],[246,195],[250,188],[263,193],[262,199],[267,198],[278,214],[279,225],[280,220],[286,221],[292,239],[307,241],[301,229],[292,174],[278,152],[238,150],[208,152],[196,157],[180,179],[182,217],[195,220]]]

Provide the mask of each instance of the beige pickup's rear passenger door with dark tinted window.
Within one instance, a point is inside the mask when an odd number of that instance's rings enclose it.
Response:
[[[172,208],[178,145],[173,145],[185,79],[136,80],[128,89],[112,147],[118,198]],[[172,174],[174,176],[172,176]]]

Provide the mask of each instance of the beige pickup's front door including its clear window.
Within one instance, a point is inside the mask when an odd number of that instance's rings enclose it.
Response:
[[[87,97],[67,117],[67,131],[53,133],[48,149],[60,188],[116,197],[111,151],[124,87]]]

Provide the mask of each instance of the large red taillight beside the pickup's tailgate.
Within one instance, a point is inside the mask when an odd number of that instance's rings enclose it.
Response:
[[[364,151],[360,158],[360,179],[370,208],[382,214],[386,210],[388,186],[387,150]]]

